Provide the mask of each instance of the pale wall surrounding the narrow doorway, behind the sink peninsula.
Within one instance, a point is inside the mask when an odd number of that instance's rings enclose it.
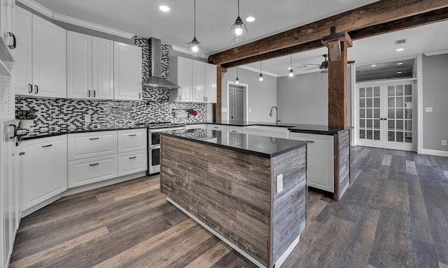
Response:
[[[277,104],[276,77],[263,74],[263,76],[265,77],[265,81],[260,83],[258,82],[259,75],[260,73],[238,68],[239,82],[248,84],[248,107],[251,109],[251,112],[249,112],[248,121],[275,122],[275,115],[274,117],[269,117],[269,110],[273,105]],[[223,108],[228,108],[227,107],[228,96],[226,94],[227,81],[231,80],[235,82],[236,77],[237,77],[237,68],[229,68],[227,70],[227,73],[225,73],[223,77],[223,84],[222,84]],[[221,113],[221,118],[223,120],[225,120],[227,116],[228,116],[227,112]]]

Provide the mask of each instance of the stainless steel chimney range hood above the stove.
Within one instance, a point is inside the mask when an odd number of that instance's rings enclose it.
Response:
[[[146,89],[179,89],[173,82],[162,78],[162,43],[160,39],[149,38],[151,42],[151,77],[143,82]]]

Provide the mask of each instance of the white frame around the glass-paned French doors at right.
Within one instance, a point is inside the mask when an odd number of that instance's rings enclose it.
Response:
[[[396,80],[376,80],[376,81],[366,81],[366,82],[358,82],[358,83],[356,83],[356,85],[355,85],[355,87],[354,87],[354,92],[353,92],[353,98],[352,98],[352,100],[353,100],[353,107],[354,107],[354,109],[353,109],[353,113],[352,113],[352,118],[354,117],[354,136],[355,136],[355,144],[359,144],[360,142],[359,142],[359,107],[358,107],[358,105],[359,105],[359,103],[358,103],[358,98],[359,98],[359,91],[357,90],[358,89],[358,86],[362,86],[363,84],[378,84],[380,87],[383,87],[384,85],[386,85],[386,84],[390,84],[390,83],[393,83],[393,82],[413,82],[415,85],[416,85],[416,87],[417,87],[417,91],[413,91],[413,98],[415,99],[415,101],[413,101],[414,103],[419,103],[419,101],[420,101],[420,96],[419,96],[419,89],[418,89],[418,87],[419,87],[419,84],[418,84],[418,80],[416,79],[416,78],[405,78],[405,79],[396,79]],[[382,98],[382,97],[381,97]],[[387,97],[386,97],[387,98]],[[412,130],[412,133],[413,133],[413,142],[412,142],[412,144],[413,144],[413,151],[418,151],[418,148],[419,148],[419,136],[420,135],[418,135],[418,133],[419,133],[419,131],[420,131],[420,129],[421,129],[421,126],[420,126],[420,124],[419,124],[419,120],[418,120],[418,114],[421,114],[421,110],[419,109],[419,105],[414,105],[414,110],[416,110],[416,113],[414,112],[413,113],[413,124],[414,124],[414,126],[415,126],[415,128]],[[383,123],[381,123],[381,124],[384,124],[384,122]],[[387,132],[387,130],[386,130],[386,132]],[[384,134],[384,133],[383,133]],[[381,138],[384,138],[384,137],[381,137]],[[386,142],[386,141],[384,141],[384,142]],[[394,149],[394,148],[391,148],[391,149]]]

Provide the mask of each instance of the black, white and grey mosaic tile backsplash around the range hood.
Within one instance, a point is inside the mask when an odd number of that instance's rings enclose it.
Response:
[[[142,78],[151,73],[151,51],[148,39],[136,38],[136,45],[144,48]],[[169,47],[162,45],[162,76],[168,77],[167,63]],[[205,103],[170,103],[169,91],[163,89],[144,89],[143,101],[90,101],[66,98],[27,98],[16,96],[15,110],[35,109],[38,117],[34,119],[30,131],[45,132],[68,128],[97,128],[107,124],[125,125],[147,122],[169,121],[172,123],[200,123],[207,120]],[[198,114],[192,119],[176,118],[177,110],[195,109]],[[91,122],[85,122],[90,115]]]

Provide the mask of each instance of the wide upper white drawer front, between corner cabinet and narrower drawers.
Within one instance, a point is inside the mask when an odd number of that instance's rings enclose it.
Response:
[[[69,134],[69,161],[117,154],[117,131]]]

